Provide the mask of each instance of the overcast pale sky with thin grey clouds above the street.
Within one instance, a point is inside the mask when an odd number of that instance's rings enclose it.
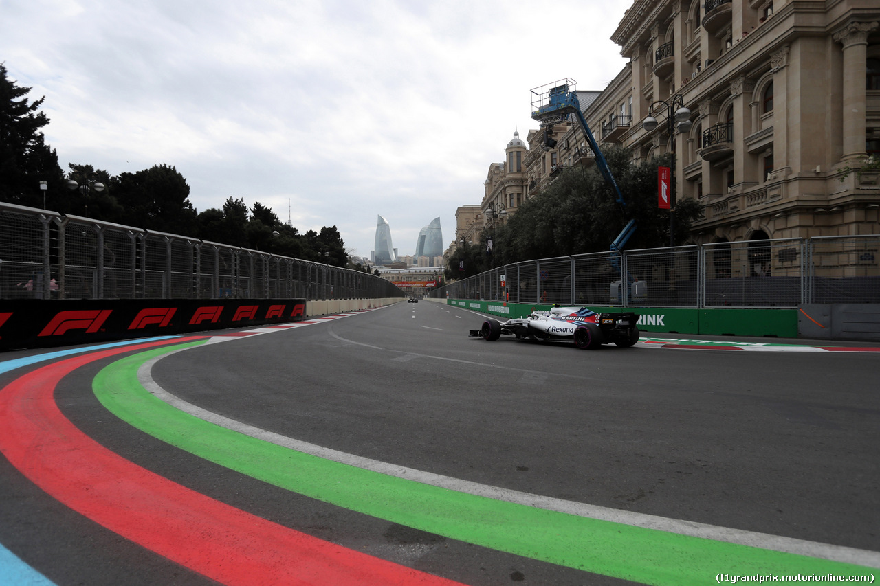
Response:
[[[0,0],[0,61],[59,163],[173,165],[198,211],[254,201],[401,255],[479,204],[530,90],[602,90],[631,0]],[[290,209],[290,212],[289,212]]]

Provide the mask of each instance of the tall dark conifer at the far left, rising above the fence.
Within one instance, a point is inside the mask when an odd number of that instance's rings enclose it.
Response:
[[[45,143],[40,128],[49,123],[39,112],[45,97],[29,102],[29,87],[20,87],[7,77],[0,62],[0,201],[41,208],[44,192],[40,181],[48,181],[47,207],[63,195],[64,173],[58,155]]]

